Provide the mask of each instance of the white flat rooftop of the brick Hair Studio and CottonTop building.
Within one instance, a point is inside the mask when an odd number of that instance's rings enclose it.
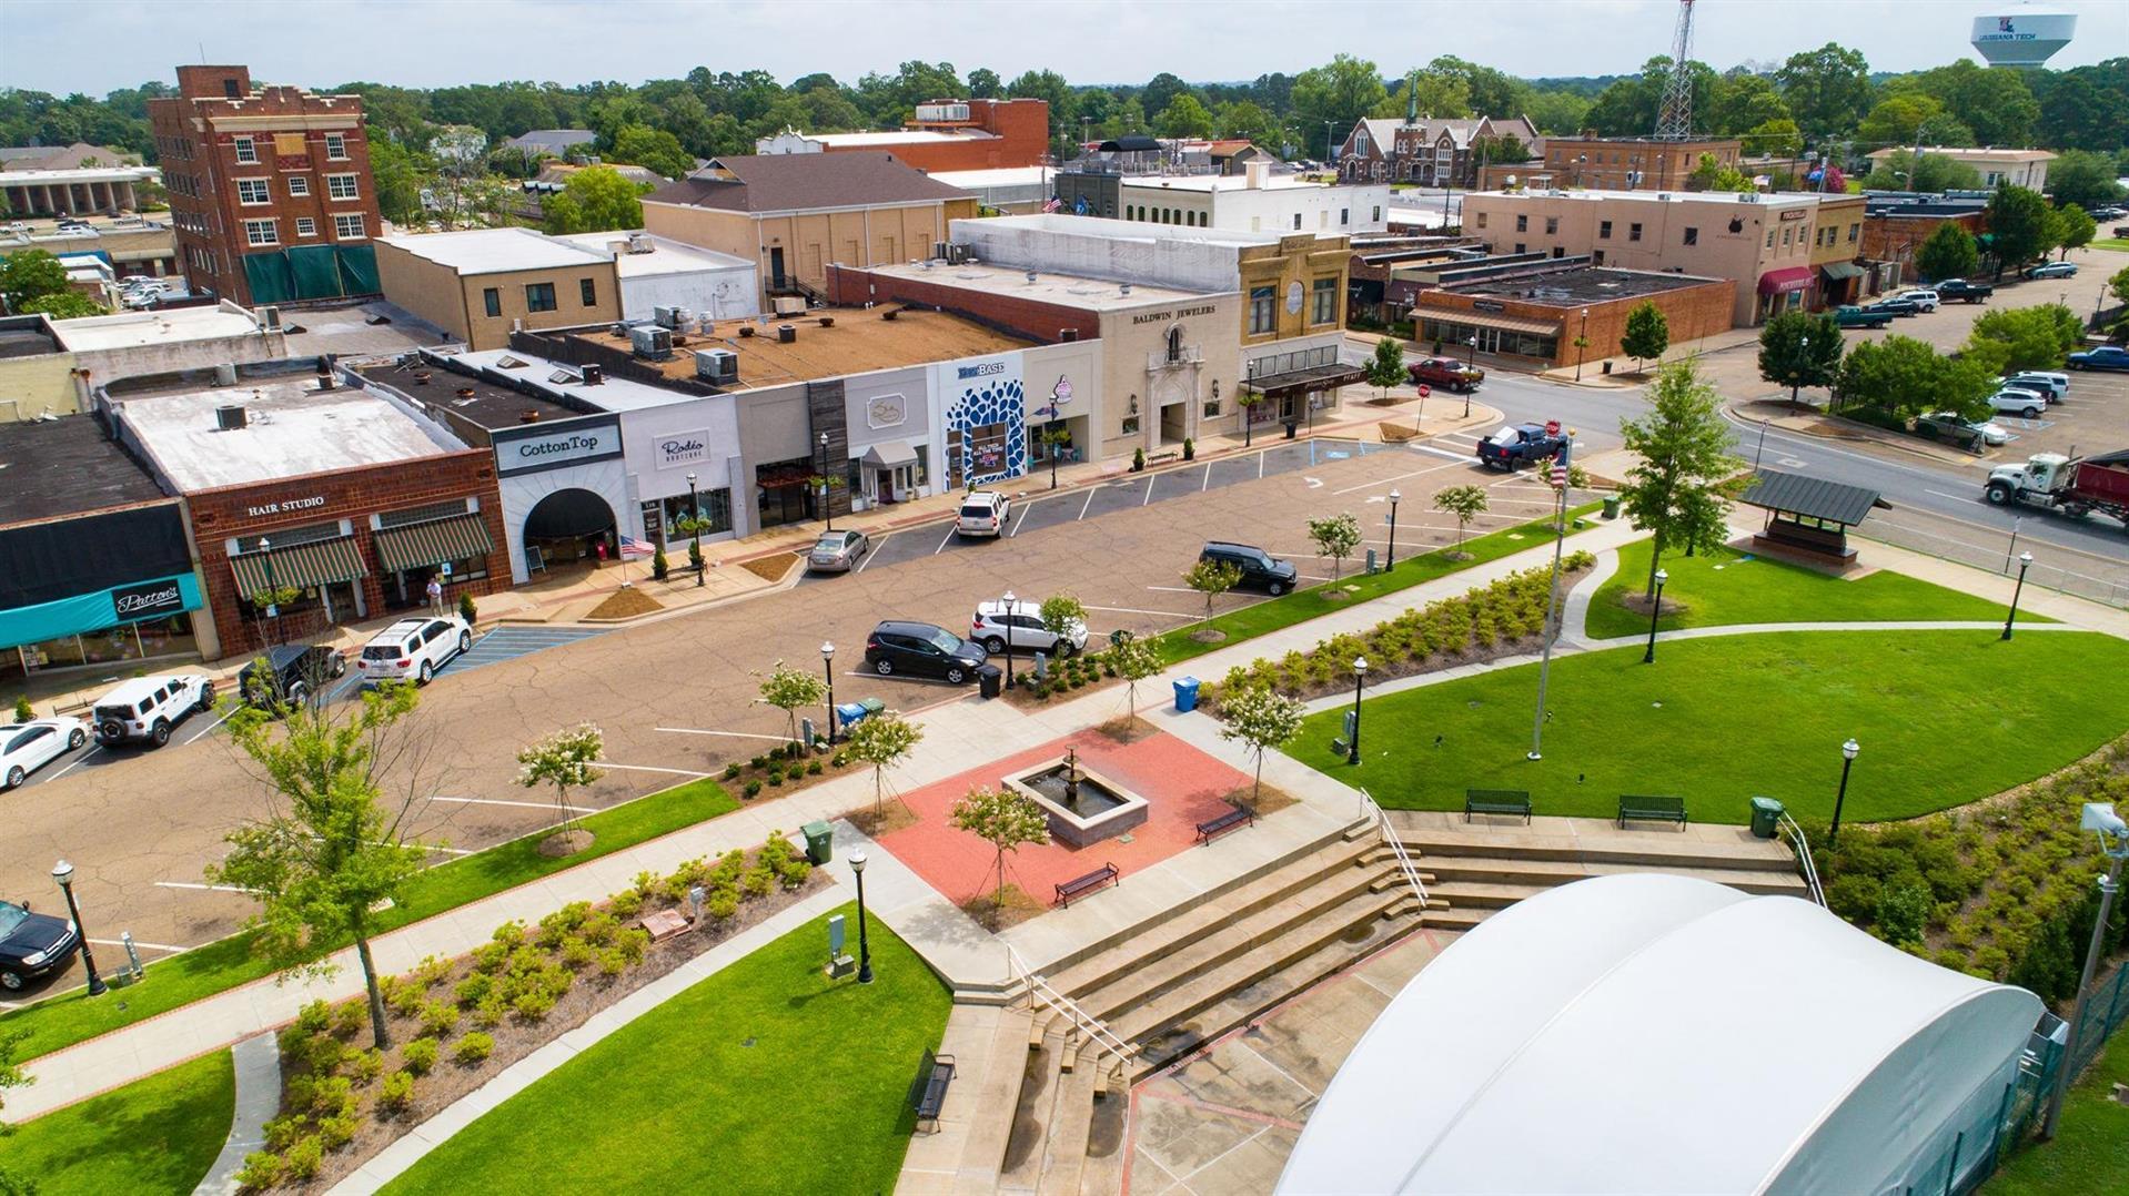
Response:
[[[219,406],[243,406],[249,423],[221,430]],[[187,494],[464,449],[375,392],[317,389],[317,375],[126,396],[113,398],[113,409],[164,477]]]

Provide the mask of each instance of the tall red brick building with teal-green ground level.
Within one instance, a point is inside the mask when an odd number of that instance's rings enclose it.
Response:
[[[362,98],[253,87],[247,66],[179,66],[177,92],[147,111],[192,287],[245,306],[377,294]]]

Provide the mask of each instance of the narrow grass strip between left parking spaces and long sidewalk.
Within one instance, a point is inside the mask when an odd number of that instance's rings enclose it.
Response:
[[[581,824],[596,838],[592,838],[592,847],[568,858],[539,853],[539,841],[545,838],[545,832],[460,856],[411,879],[400,902],[379,917],[379,932],[458,909],[562,868],[575,868],[585,860],[634,847],[735,809],[739,802],[705,777],[583,817]],[[85,990],[75,990],[40,1000],[0,1015],[0,1032],[28,1030],[30,1039],[21,1045],[21,1056],[36,1058],[273,975],[266,960],[251,953],[251,943],[253,936],[241,932],[170,956],[149,964],[147,979],[138,985],[113,990],[109,996],[89,998]]]

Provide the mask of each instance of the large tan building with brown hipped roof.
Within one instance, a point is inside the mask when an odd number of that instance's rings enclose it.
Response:
[[[818,298],[830,264],[930,258],[947,221],[975,209],[890,153],[771,153],[717,157],[643,196],[643,228],[754,262],[764,298]]]

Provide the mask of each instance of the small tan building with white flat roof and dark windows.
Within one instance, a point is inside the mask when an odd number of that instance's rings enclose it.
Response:
[[[473,349],[509,345],[515,328],[622,319],[613,253],[530,228],[377,238],[385,298]]]

